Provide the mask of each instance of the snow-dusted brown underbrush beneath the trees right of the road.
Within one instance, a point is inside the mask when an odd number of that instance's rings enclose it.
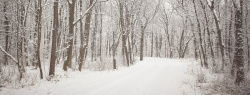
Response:
[[[235,78],[228,70],[219,72],[196,64],[193,66],[193,74],[196,76],[196,87],[202,95],[250,95],[250,73],[246,74],[245,81],[239,86],[235,85]]]

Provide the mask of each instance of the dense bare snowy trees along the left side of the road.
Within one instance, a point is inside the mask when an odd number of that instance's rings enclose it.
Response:
[[[136,56],[143,58],[144,38],[160,2],[3,0],[1,72],[5,67],[18,70],[21,80],[26,67],[35,67],[43,79],[48,76],[43,74],[48,64],[49,76],[55,75],[56,65],[63,65],[64,71],[82,71],[88,62],[109,62],[113,69],[130,66]]]

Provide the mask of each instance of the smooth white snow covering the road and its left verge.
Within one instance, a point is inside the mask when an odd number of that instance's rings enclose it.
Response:
[[[0,95],[196,95],[190,60],[144,58],[127,68],[111,71],[57,72],[21,89],[1,88]]]

